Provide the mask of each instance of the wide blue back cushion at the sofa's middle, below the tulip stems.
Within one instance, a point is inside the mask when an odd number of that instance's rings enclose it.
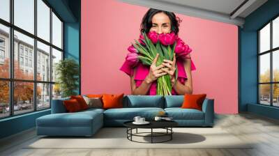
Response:
[[[162,95],[127,95],[126,107],[157,107],[164,108],[164,97]]]

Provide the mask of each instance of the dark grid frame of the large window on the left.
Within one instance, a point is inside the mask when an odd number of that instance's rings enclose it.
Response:
[[[61,17],[58,15],[58,13],[56,13],[56,11],[50,6],[49,3],[47,3],[47,1],[42,0],[43,3],[45,3],[47,5],[47,7],[50,8],[50,41],[44,40],[43,38],[40,38],[37,36],[37,0],[33,0],[34,1],[34,34],[29,33],[28,31],[25,31],[24,29],[21,29],[19,26],[15,26],[14,25],[14,0],[10,0],[9,1],[9,7],[10,7],[10,22],[7,22],[6,20],[3,20],[0,18],[0,24],[2,24],[3,26],[8,26],[9,28],[9,47],[8,47],[8,52],[10,54],[10,77],[9,78],[1,78],[0,77],[0,81],[8,81],[9,83],[9,108],[10,108],[10,112],[9,112],[9,116],[4,116],[4,117],[0,117],[0,120],[3,118],[11,118],[13,116],[21,116],[23,114],[30,114],[36,111],[43,111],[46,109],[50,109],[52,107],[52,87],[53,84],[55,84],[54,81],[52,81],[52,75],[50,75],[50,79],[49,81],[38,81],[37,80],[37,41],[50,46],[50,73],[52,73],[52,48],[58,50],[59,52],[61,52],[62,54],[62,60],[64,59],[64,51],[63,51],[63,36],[64,36],[64,31],[63,31],[63,25],[64,22],[61,19]],[[56,15],[56,17],[58,17],[58,19],[61,21],[61,48],[56,47],[56,45],[52,45],[52,13],[54,13],[54,15]],[[33,44],[33,80],[27,80],[27,79],[15,79],[14,78],[14,31],[17,31],[19,33],[24,34],[25,36],[28,36],[30,38],[33,38],[34,40],[34,44]],[[19,52],[20,54],[20,52]],[[13,100],[13,96],[14,96],[14,82],[32,82],[33,83],[33,110],[28,111],[27,113],[23,113],[23,114],[15,114],[14,113],[14,100]],[[50,107],[44,108],[44,109],[38,109],[37,108],[37,85],[38,84],[50,84]]]

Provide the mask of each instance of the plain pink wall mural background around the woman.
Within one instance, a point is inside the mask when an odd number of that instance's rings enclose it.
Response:
[[[130,77],[119,70],[127,48],[140,36],[149,8],[114,0],[82,1],[82,94],[130,94]],[[238,112],[237,26],[175,13],[179,36],[193,52],[193,93],[215,99],[218,114]]]

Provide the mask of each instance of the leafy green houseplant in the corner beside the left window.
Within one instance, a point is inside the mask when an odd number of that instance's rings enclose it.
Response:
[[[78,88],[79,65],[73,59],[64,59],[56,64],[55,74],[57,84],[61,89],[62,98],[70,95],[77,95],[75,90]]]

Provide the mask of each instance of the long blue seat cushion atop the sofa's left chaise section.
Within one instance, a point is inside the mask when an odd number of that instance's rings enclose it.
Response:
[[[93,120],[103,114],[99,111],[80,111],[75,113],[49,114],[36,119],[40,127],[91,127]],[[102,118],[103,119],[103,118]],[[103,120],[100,120],[103,123]]]

